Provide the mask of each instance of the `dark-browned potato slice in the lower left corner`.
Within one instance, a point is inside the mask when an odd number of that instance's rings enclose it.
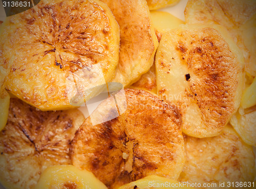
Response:
[[[71,164],[70,143],[83,121],[79,110],[43,112],[11,99],[0,133],[0,182],[7,188],[33,188],[47,167]]]

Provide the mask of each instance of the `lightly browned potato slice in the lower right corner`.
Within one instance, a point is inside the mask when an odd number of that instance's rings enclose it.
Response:
[[[200,183],[200,188],[232,188],[227,182],[253,181],[255,162],[252,147],[244,144],[230,125],[219,136],[185,136],[184,143],[187,159],[179,181]],[[225,187],[220,187],[220,182],[225,182]],[[204,183],[217,186],[203,187]]]

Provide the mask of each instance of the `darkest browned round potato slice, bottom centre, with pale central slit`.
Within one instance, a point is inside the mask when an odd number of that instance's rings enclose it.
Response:
[[[185,160],[181,117],[144,90],[125,89],[127,110],[115,119],[92,125],[88,118],[72,141],[74,166],[91,171],[110,188],[148,175],[177,179]],[[96,109],[99,119],[115,114],[110,98]],[[93,112],[94,114],[94,112]]]

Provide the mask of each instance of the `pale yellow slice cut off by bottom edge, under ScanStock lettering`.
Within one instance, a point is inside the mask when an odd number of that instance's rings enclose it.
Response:
[[[185,185],[185,184],[184,184]],[[136,180],[134,182],[125,184],[118,189],[150,189],[150,188],[169,188],[169,189],[182,189],[182,188],[194,188],[194,187],[179,187],[179,182],[156,175],[150,175],[145,178]]]

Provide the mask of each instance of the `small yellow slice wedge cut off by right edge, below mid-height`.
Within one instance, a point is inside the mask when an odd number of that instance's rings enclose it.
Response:
[[[256,146],[256,106],[243,109],[239,108],[236,114],[231,117],[230,124],[238,132],[244,142]]]

